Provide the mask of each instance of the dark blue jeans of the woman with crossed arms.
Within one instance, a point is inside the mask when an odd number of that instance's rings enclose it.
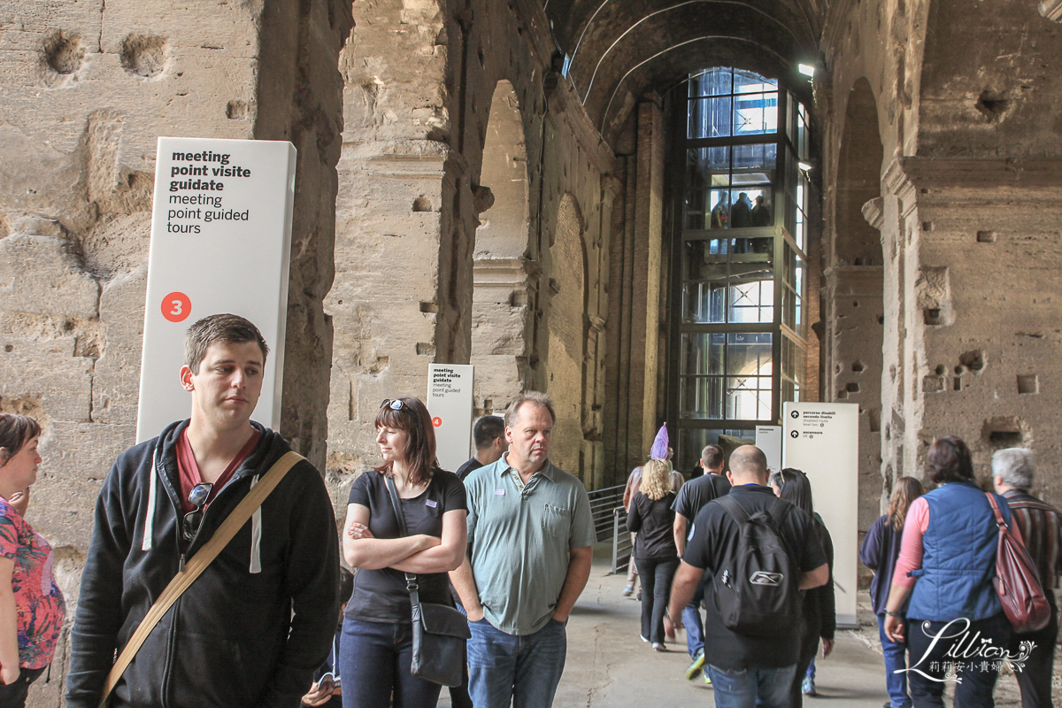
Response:
[[[413,629],[409,622],[343,620],[339,666],[343,708],[423,708],[439,702],[439,684],[414,677]]]

